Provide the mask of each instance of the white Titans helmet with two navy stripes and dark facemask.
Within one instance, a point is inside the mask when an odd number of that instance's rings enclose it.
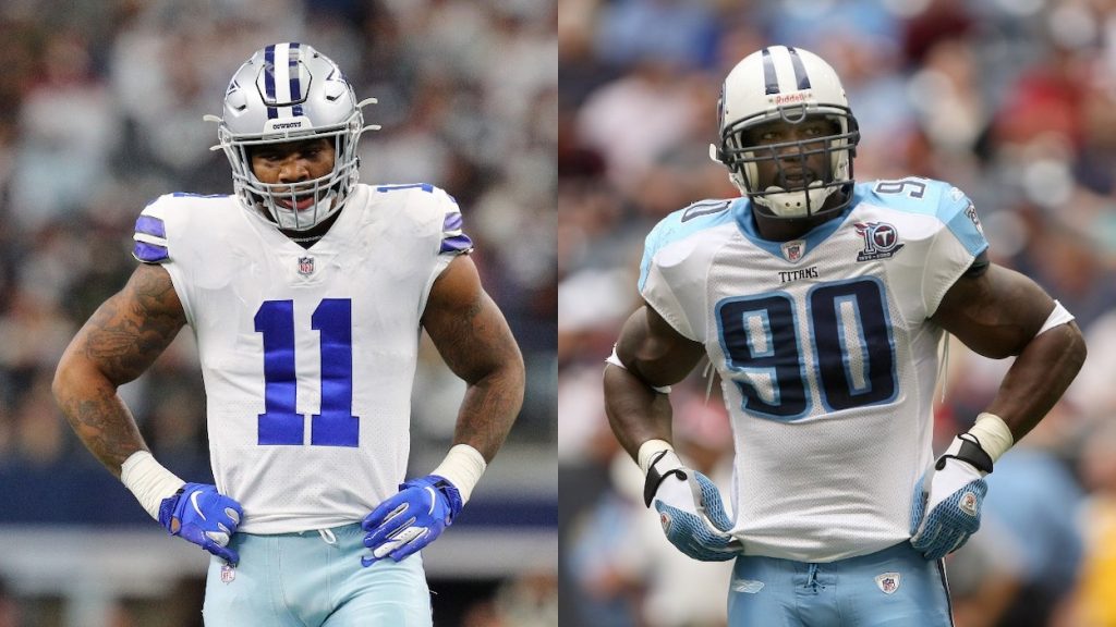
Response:
[[[820,57],[788,46],[752,52],[724,79],[718,108],[721,143],[710,145],[710,156],[729,167],[729,179],[742,194],[777,218],[822,213],[822,205],[835,192],[844,199],[827,206],[824,213],[840,211],[852,202],[853,156],[860,139],[859,127],[840,78]],[[748,128],[779,119],[797,124],[815,116],[835,122],[837,133],[808,142],[744,145],[742,132]],[[809,148],[818,145],[822,147]],[[805,170],[806,157],[819,152],[829,156],[828,172],[820,180],[808,177],[801,185],[769,184],[759,189],[758,163],[776,164],[778,181],[785,182],[783,163],[788,158],[801,160]]]

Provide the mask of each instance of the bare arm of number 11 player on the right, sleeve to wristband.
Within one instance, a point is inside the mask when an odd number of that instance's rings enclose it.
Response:
[[[434,281],[422,324],[468,384],[454,444],[469,444],[491,462],[523,404],[523,357],[470,258],[454,258]]]

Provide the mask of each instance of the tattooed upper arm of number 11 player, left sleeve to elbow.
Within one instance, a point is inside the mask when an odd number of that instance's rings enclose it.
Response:
[[[143,374],[185,322],[167,271],[141,264],[124,289],[81,327],[66,349],[64,365],[94,368],[114,385],[123,385]]]

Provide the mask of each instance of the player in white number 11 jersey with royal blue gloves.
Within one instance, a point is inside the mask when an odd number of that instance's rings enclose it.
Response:
[[[85,445],[212,553],[210,627],[431,625],[415,553],[469,501],[522,403],[522,358],[453,197],[357,183],[371,102],[309,46],[257,51],[223,116],[206,116],[235,193],[144,209],[142,263],[58,366],[56,398]],[[155,461],[116,393],[187,325],[215,485]],[[404,481],[422,329],[466,390],[445,460]]]

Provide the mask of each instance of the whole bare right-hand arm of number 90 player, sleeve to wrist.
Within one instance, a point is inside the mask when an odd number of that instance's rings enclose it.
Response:
[[[1017,356],[988,412],[1003,418],[1016,442],[1054,407],[1085,363],[1085,340],[1069,322],[1035,334],[1054,300],[1035,281],[992,264],[979,277],[962,277],[933,320],[977,353]]]

